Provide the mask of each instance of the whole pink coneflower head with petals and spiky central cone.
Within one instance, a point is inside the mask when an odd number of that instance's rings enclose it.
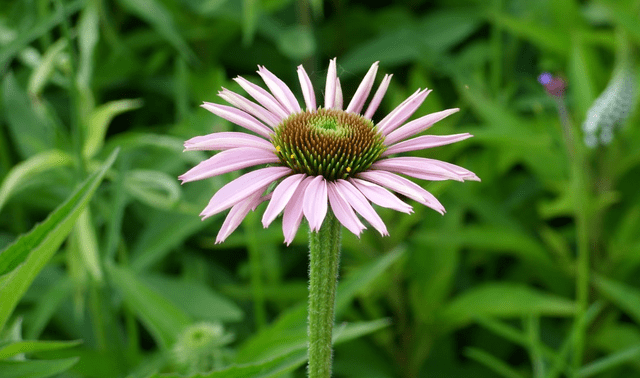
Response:
[[[477,180],[472,172],[439,160],[421,157],[390,157],[401,152],[421,150],[458,142],[471,137],[423,135],[408,139],[459,109],[405,121],[418,109],[430,90],[418,90],[380,122],[372,116],[389,86],[392,75],[385,75],[363,112],[378,70],[374,63],[351,102],[343,107],[336,60],[329,63],[324,107],[316,104],[311,80],[302,66],[298,77],[306,105],[303,110],[289,87],[264,67],[258,67],[269,91],[242,77],[234,79],[254,101],[223,88],[219,96],[232,106],[205,102],[202,107],[253,134],[219,132],[185,142],[185,150],[221,150],[182,176],[183,183],[201,180],[256,165],[267,164],[223,186],[200,214],[203,219],[231,208],[217,243],[223,242],[250,210],[270,200],[262,217],[264,227],[282,212],[284,240],[290,244],[302,218],[312,231],[320,229],[327,209],[349,231],[359,235],[367,220],[380,234],[388,235],[376,205],[411,213],[412,207],[389,190],[400,193],[440,213],[444,207],[428,191],[398,174],[423,180]],[[255,134],[255,135],[254,135]],[[265,191],[274,182],[275,189]]]

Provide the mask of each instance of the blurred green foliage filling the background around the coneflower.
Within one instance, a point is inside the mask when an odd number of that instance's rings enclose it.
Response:
[[[177,176],[208,156],[184,140],[234,127],[198,107],[234,76],[297,91],[304,64],[319,87],[334,56],[346,98],[372,62],[394,73],[380,114],[425,87],[414,117],[461,108],[430,132],[475,138],[421,154],[482,178],[421,183],[444,217],[345,233],[335,376],[640,376],[640,118],[594,149],[580,129],[619,66],[638,87],[639,20],[638,0],[0,3],[0,377],[303,377],[305,232],[285,247],[250,214],[215,245],[222,215],[198,213],[233,174]]]

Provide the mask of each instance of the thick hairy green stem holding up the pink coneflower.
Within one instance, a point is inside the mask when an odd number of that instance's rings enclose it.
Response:
[[[309,232],[309,378],[331,377],[340,222],[329,211],[318,232]]]

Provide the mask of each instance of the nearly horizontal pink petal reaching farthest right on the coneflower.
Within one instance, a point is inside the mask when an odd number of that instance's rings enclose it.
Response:
[[[431,159],[420,157],[397,157],[378,160],[371,164],[372,169],[402,173],[422,180],[464,181],[463,176],[450,169],[434,164]]]

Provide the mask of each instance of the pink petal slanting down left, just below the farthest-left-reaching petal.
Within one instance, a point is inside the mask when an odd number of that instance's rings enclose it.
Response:
[[[267,167],[246,173],[213,195],[200,216],[203,219],[230,208],[255,192],[262,193],[272,182],[292,173],[289,167]]]

